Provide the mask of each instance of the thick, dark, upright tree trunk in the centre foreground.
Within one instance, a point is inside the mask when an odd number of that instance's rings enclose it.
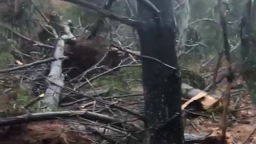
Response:
[[[182,144],[181,78],[175,51],[172,0],[150,0],[160,11],[159,15],[141,1],[146,0],[138,0],[138,17],[144,18],[145,23],[144,28],[138,29],[138,34],[144,56],[142,80],[146,127],[149,128],[146,144]]]

